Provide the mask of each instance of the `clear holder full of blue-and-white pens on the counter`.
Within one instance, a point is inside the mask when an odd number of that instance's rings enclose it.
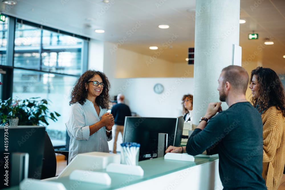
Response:
[[[125,142],[121,144],[121,164],[139,165],[140,144],[135,142]]]

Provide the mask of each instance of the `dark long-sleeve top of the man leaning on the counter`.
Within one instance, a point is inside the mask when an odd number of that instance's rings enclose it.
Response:
[[[262,178],[262,119],[249,103],[236,103],[195,129],[186,151],[219,154],[219,175],[224,189],[267,189]]]

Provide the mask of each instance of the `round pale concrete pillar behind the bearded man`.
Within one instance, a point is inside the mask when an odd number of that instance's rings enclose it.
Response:
[[[217,80],[232,65],[233,44],[239,45],[239,16],[240,0],[196,1],[193,124],[210,102],[219,101]]]

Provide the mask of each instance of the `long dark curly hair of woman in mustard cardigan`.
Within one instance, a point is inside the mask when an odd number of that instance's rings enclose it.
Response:
[[[256,75],[258,83],[258,98],[251,97],[254,107],[259,106],[259,113],[275,106],[285,117],[285,93],[279,76],[270,68],[257,67],[251,71],[249,84],[252,83],[253,75]]]

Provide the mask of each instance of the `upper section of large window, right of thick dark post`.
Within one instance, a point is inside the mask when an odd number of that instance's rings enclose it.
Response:
[[[14,67],[80,75],[83,40],[17,23]]]

